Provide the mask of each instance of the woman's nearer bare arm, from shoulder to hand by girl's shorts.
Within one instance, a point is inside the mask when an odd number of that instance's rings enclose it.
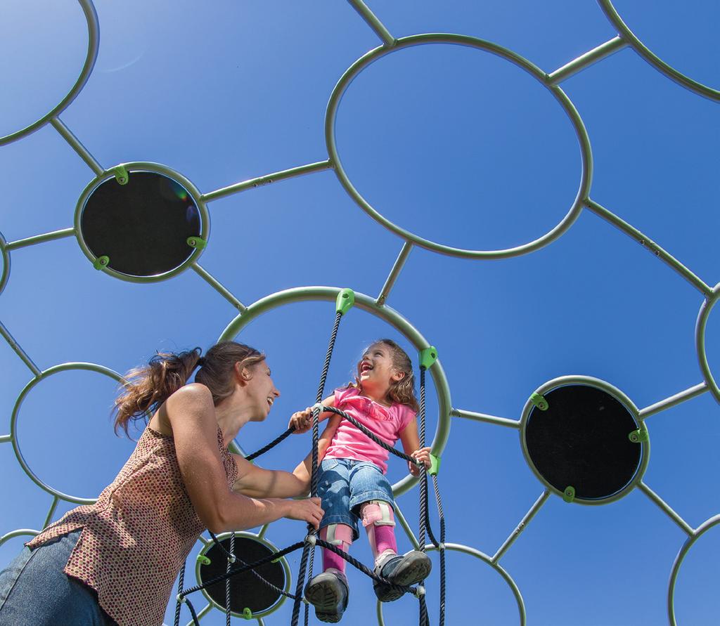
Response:
[[[165,404],[173,430],[180,473],[198,517],[212,532],[243,530],[281,517],[305,520],[318,527],[322,509],[317,498],[307,500],[253,499],[228,489],[217,448],[217,421],[206,386],[190,384]]]

